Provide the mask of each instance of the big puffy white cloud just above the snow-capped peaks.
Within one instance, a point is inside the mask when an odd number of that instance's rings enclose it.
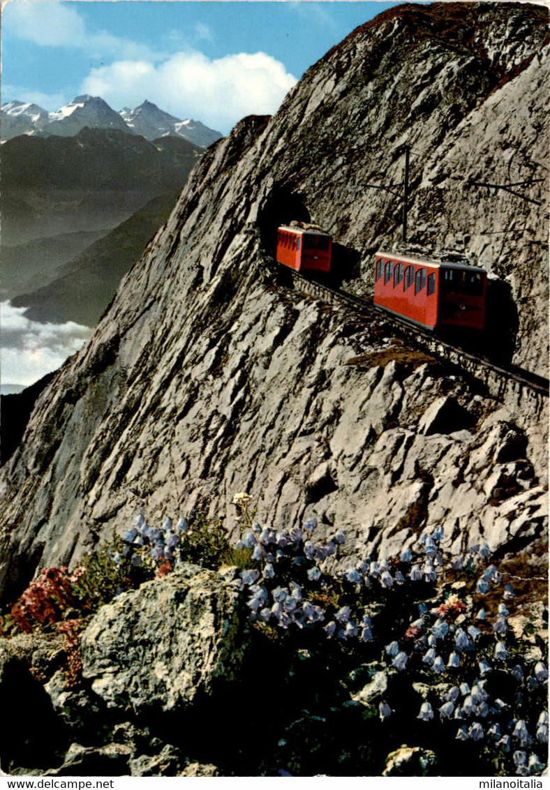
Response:
[[[194,118],[227,132],[245,115],[277,110],[296,77],[266,55],[241,52],[210,60],[186,51],[161,63],[123,59],[92,69],[81,91],[118,109],[150,99],[179,118]]]

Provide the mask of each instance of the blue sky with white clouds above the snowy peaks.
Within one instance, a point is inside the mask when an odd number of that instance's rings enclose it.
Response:
[[[296,80],[394,2],[47,2],[2,13],[2,103],[54,111],[80,93],[149,99],[223,134],[273,113]]]

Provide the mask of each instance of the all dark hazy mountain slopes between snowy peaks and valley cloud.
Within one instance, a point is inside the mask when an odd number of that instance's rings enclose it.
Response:
[[[114,128],[6,141],[0,298],[39,322],[94,325],[203,153]]]

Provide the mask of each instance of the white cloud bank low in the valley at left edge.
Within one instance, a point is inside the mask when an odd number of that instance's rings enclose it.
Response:
[[[0,303],[2,314],[2,385],[29,386],[55,371],[92,335],[74,322],[39,324],[24,317],[24,307]]]

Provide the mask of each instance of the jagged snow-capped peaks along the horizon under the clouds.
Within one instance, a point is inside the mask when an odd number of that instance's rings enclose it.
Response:
[[[201,148],[206,148],[222,136],[200,121],[175,118],[149,101],[144,101],[134,110],[124,107],[115,112],[100,96],[85,95],[77,96],[55,112],[21,101],[2,104],[1,111],[2,142],[21,134],[73,137],[86,126],[90,129],[116,129],[128,134],[139,134],[149,141],[158,137],[183,137]]]

